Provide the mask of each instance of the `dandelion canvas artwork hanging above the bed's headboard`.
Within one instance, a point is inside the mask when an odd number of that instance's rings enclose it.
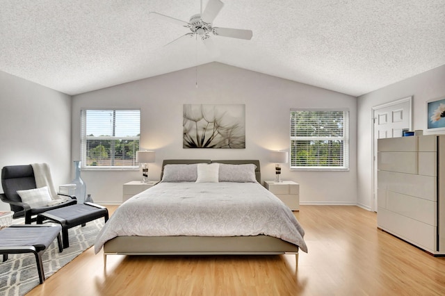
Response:
[[[245,105],[184,104],[183,148],[245,148]]]

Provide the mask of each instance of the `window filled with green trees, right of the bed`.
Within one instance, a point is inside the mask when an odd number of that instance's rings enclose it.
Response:
[[[349,169],[348,110],[291,110],[292,169]]]

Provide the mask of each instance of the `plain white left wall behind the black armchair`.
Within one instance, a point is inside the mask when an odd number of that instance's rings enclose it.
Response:
[[[0,72],[0,139],[0,167],[48,163],[56,186],[71,181],[67,94]],[[0,202],[5,210],[9,205]]]

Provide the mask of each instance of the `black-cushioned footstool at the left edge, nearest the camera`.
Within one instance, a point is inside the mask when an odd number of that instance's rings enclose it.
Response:
[[[57,238],[58,252],[63,251],[60,240],[60,225],[11,225],[0,230],[0,254],[3,254],[3,262],[8,260],[8,254],[33,253],[39,281],[44,281],[42,254]]]

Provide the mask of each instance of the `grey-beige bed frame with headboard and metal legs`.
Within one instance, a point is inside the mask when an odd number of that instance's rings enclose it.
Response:
[[[168,164],[227,163],[257,165],[255,176],[261,183],[257,160],[211,161],[208,159],[164,160]],[[119,236],[104,244],[104,266],[107,255],[277,255],[295,254],[298,246],[272,236]]]

